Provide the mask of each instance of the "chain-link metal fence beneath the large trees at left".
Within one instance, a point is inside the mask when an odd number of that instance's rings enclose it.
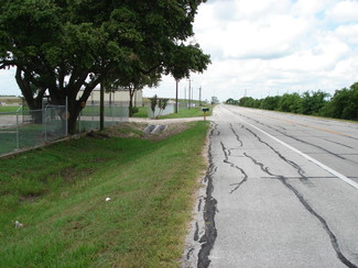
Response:
[[[66,105],[50,104],[30,110],[26,105],[17,112],[0,113],[0,155],[35,147],[68,135]],[[128,122],[128,103],[105,104],[105,126]],[[77,119],[77,132],[99,130],[99,103],[87,105]]]

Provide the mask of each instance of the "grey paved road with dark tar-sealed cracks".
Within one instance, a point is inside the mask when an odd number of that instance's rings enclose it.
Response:
[[[184,267],[358,267],[358,124],[218,105]]]

